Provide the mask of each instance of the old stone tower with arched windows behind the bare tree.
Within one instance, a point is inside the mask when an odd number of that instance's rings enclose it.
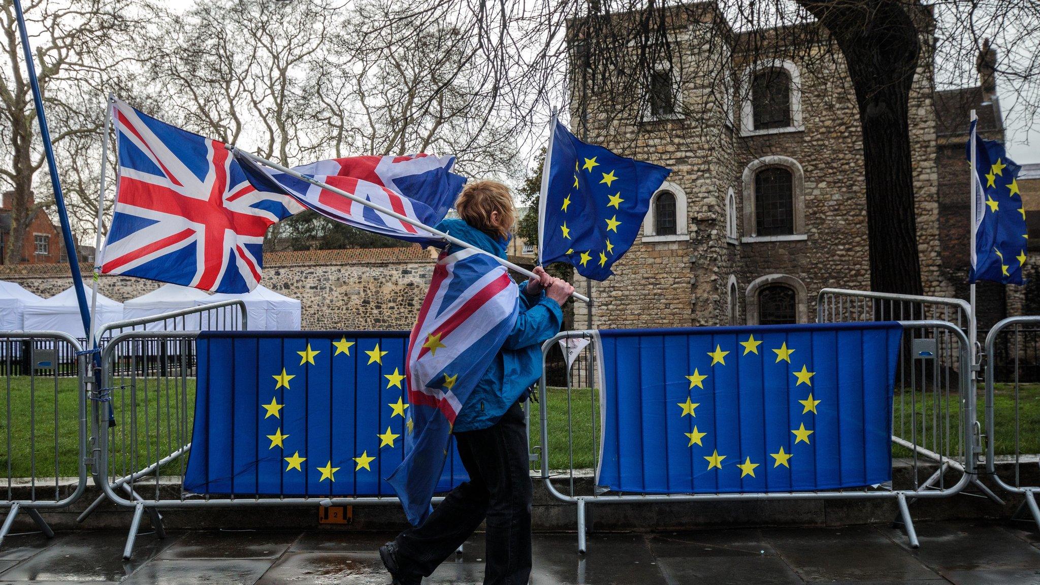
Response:
[[[667,19],[671,62],[654,72],[648,105],[618,113],[610,96],[588,93],[590,142],[673,170],[616,275],[592,283],[593,324],[812,321],[821,288],[868,289],[870,282],[862,138],[847,68],[818,40],[790,52],[801,56],[762,58],[770,53],[759,48],[763,37],[781,43],[783,35],[720,33],[713,3],[691,6]],[[940,241],[932,21],[920,20],[909,107],[918,250],[925,292],[951,296]],[[728,68],[736,87],[705,79],[712,68],[704,62]],[[571,115],[576,127],[579,111]],[[575,323],[586,323],[584,310],[575,305]]]

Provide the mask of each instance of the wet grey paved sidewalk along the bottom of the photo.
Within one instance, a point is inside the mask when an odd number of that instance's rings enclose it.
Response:
[[[816,582],[1040,584],[1040,536],[1030,525],[920,523],[910,550],[888,526],[594,534],[589,554],[573,534],[535,537],[532,583],[727,585]],[[376,548],[389,537],[339,532],[141,534],[123,562],[125,534],[82,531],[48,540],[10,536],[0,549],[0,583],[384,584]],[[480,583],[484,540],[441,565],[424,583]]]

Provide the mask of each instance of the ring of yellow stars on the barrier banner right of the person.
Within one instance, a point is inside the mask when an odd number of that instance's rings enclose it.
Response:
[[[762,340],[761,339],[755,339],[755,335],[753,333],[748,335],[747,340],[737,341],[737,342],[738,342],[738,345],[743,346],[743,348],[744,348],[744,352],[740,355],[748,355],[748,354],[761,355],[761,354],[758,353],[758,350],[759,350],[759,346],[762,345]],[[770,348],[770,349],[776,355],[776,361],[774,363],[780,363],[781,361],[785,361],[788,364],[791,363],[790,357],[791,357],[791,354],[795,353],[795,350],[790,349],[790,348],[787,348],[787,342],[786,341],[783,341],[780,345],[779,348]],[[728,351],[728,350],[723,350],[722,349],[722,345],[721,344],[717,344],[716,348],[714,348],[714,351],[710,351],[710,352],[706,352],[706,353],[707,353],[708,357],[711,358],[711,363],[708,365],[708,370],[706,372],[710,372],[711,368],[714,365],[717,365],[717,364],[719,364],[719,365],[726,365],[726,356],[728,356],[731,352]],[[798,388],[799,386],[801,386],[803,384],[805,384],[806,386],[809,387],[809,395],[808,395],[808,397],[805,400],[799,400],[798,401],[802,405],[802,414],[807,414],[807,413],[810,413],[810,412],[812,414],[816,414],[816,406],[821,402],[823,402],[823,401],[821,401],[818,399],[813,398],[813,396],[812,396],[812,377],[815,376],[816,373],[815,372],[809,372],[808,365],[805,364],[805,363],[803,363],[802,364],[802,368],[800,371],[792,371],[792,372],[790,372],[790,374],[792,376],[795,376],[795,378],[796,378],[795,388]],[[690,387],[687,389],[692,391],[695,387],[697,387],[697,388],[701,388],[703,390],[704,389],[704,381],[708,379],[708,376],[709,376],[709,374],[701,374],[700,368],[695,367],[694,368],[694,373],[685,377],[686,380],[690,382]],[[680,418],[683,417],[683,416],[687,416],[687,415],[691,418],[694,418],[694,419],[697,418],[696,409],[697,409],[698,406],[700,406],[700,403],[696,403],[696,402],[693,401],[693,395],[687,396],[686,400],[684,402],[680,402],[680,403],[676,403],[676,404],[677,404],[677,406],[681,410],[681,412],[679,413],[679,417]],[[805,442],[806,444],[810,444],[809,437],[810,437],[810,435],[812,435],[812,433],[814,431],[812,431],[811,429],[806,429],[805,428],[805,423],[802,423],[802,424],[799,425],[798,429],[791,429],[790,432],[791,432],[791,434],[795,435],[795,444],[798,444],[800,442]],[[702,442],[702,439],[705,436],[707,436],[707,434],[708,433],[699,430],[698,426],[695,424],[692,432],[683,433],[683,435],[685,435],[686,438],[690,439],[688,443],[686,444],[686,447],[691,447],[692,448],[695,444],[700,446],[700,447],[704,447],[704,443]],[[777,449],[776,453],[770,453],[770,457],[773,458],[773,466],[774,467],[779,467],[779,466],[783,465],[784,467],[787,467],[788,469],[790,468],[790,461],[789,460],[792,457],[792,455],[794,454],[787,453],[787,452],[784,451],[784,446],[780,446]],[[704,455],[703,457],[707,461],[707,470],[710,470],[710,469],[720,469],[721,470],[723,468],[723,464],[724,464],[723,460],[726,459],[726,457],[728,457],[728,455],[720,455],[718,449],[712,449],[711,455]],[[737,459],[737,462],[735,463],[735,465],[736,465],[737,468],[740,469],[740,478],[744,478],[744,477],[747,477],[747,476],[751,476],[752,478],[754,478],[755,477],[755,468],[757,468],[758,466],[760,466],[761,463],[755,463],[755,462],[753,462],[751,460],[751,457],[748,456],[748,457],[745,457],[743,463],[740,463],[739,459]]]

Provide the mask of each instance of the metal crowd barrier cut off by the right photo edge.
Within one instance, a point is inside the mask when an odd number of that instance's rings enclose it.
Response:
[[[1040,350],[1040,316],[1012,316],[997,323],[986,336],[986,472],[1002,488],[1011,493],[1021,494],[1022,505],[1013,517],[1020,517],[1029,511],[1037,528],[1040,528],[1040,461],[1036,451],[1022,453],[1021,390],[1028,382],[1037,382],[1035,370]],[[1010,362],[1010,363],[1009,363]],[[1029,370],[1026,370],[1029,368]],[[1023,372],[1023,370],[1026,370]],[[996,383],[1000,378],[1011,385],[1011,412],[997,415]],[[1024,378],[1024,379],[1023,379]],[[996,473],[996,428],[1013,429],[1012,454],[1007,460],[1013,463],[1012,476],[1002,477]],[[1026,459],[1028,457],[1028,459]],[[1032,468],[1032,476],[1023,478],[1023,467]]]

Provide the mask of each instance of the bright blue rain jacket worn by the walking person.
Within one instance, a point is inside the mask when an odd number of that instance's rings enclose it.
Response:
[[[437,225],[437,229],[499,258],[505,257],[508,241],[495,239],[463,220],[444,220]],[[448,247],[449,254],[456,251]],[[555,301],[545,296],[544,290],[527,295],[526,282],[517,286],[520,288],[520,314],[513,326],[513,333],[505,338],[495,360],[463,404],[453,432],[491,427],[542,376],[542,344],[560,332],[564,311]]]

